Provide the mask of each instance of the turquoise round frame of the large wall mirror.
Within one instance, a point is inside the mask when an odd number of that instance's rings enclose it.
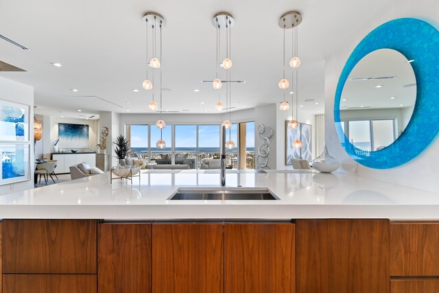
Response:
[[[366,152],[355,148],[344,134],[340,119],[340,99],[344,84],[357,62],[377,49],[394,49],[413,67],[416,102],[412,118],[403,133],[388,147]],[[389,169],[414,159],[439,132],[439,32],[419,19],[395,19],[370,32],[355,47],[344,65],[334,102],[335,129],[344,149],[358,163],[374,169]]]

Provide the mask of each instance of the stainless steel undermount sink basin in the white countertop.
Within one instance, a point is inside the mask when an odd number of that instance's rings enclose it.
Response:
[[[169,197],[169,200],[279,200],[269,189],[227,188],[227,189],[183,189]]]

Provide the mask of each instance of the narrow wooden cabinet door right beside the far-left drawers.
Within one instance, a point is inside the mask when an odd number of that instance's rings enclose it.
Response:
[[[151,292],[151,234],[151,224],[98,225],[99,293]]]

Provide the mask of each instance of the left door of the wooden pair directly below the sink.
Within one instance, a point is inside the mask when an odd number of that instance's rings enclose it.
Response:
[[[222,224],[152,224],[152,292],[224,292]]]

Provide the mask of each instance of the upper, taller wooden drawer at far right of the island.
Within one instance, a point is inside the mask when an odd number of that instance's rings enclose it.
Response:
[[[439,223],[392,223],[390,247],[391,276],[439,276]]]

